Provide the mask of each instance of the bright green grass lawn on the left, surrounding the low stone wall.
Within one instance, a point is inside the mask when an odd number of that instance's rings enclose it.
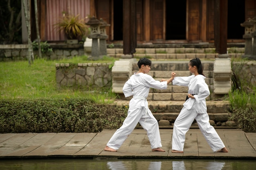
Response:
[[[111,89],[57,89],[56,63],[113,62],[103,57],[101,61],[88,61],[86,56],[51,61],[35,59],[28,61],[0,62],[0,98],[93,98],[97,102],[111,102],[117,95]]]

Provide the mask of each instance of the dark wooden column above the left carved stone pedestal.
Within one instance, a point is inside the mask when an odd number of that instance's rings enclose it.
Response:
[[[136,0],[123,0],[123,41],[122,58],[133,58],[137,46]]]

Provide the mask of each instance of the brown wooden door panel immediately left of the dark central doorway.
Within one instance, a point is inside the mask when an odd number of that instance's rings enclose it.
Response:
[[[150,40],[164,40],[164,0],[150,0]]]

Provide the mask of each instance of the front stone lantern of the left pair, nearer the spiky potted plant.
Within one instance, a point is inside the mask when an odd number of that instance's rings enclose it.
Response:
[[[88,38],[92,39],[92,59],[99,59],[99,43],[98,39],[100,38],[100,21],[96,17],[90,17],[90,20],[85,23],[91,28],[91,34],[88,35]]]

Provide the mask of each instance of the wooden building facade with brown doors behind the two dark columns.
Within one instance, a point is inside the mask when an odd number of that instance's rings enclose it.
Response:
[[[103,18],[108,42],[123,41],[126,0],[40,0],[40,37],[42,41],[63,41],[53,24],[62,11],[81,17]],[[137,42],[198,43],[214,42],[216,0],[134,0]],[[228,0],[227,42],[244,42],[248,18],[256,16],[256,0]],[[220,16],[221,17],[221,16]],[[36,35],[32,34],[32,37]]]

